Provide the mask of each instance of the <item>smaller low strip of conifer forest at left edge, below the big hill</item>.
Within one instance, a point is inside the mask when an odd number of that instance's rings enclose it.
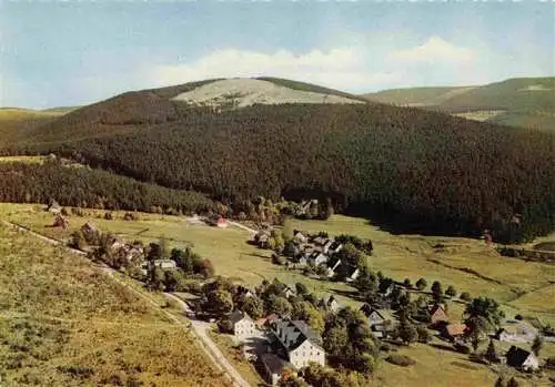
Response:
[[[196,192],[137,182],[88,167],[0,163],[0,202],[49,203],[107,210],[178,214],[206,212],[214,203]]]

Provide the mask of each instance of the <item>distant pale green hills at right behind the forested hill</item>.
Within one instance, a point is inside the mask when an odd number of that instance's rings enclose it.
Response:
[[[363,96],[476,121],[555,130],[555,78],[517,78],[477,86],[392,89]]]

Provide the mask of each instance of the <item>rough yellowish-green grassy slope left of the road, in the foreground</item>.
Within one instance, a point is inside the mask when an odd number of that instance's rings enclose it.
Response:
[[[224,386],[193,339],[89,261],[0,226],[4,386]]]

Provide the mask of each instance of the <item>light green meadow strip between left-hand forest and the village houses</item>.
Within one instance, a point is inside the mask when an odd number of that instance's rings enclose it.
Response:
[[[294,286],[296,282],[304,282],[306,286],[319,295],[334,289],[349,291],[351,287],[341,283],[311,279],[299,271],[287,271],[271,263],[270,252],[248,244],[250,233],[238,228],[216,228],[206,225],[190,224],[184,217],[140,214],[137,222],[123,221],[122,212],[113,212],[114,220],[102,218],[104,211],[87,211],[88,216],[70,216],[69,230],[49,227],[53,216],[43,211],[40,205],[0,204],[0,215],[6,220],[30,226],[33,231],[49,235],[57,240],[65,240],[72,231],[81,227],[85,222],[93,222],[101,231],[111,232],[125,240],[143,242],[167,240],[170,246],[192,247],[203,257],[210,258],[216,274],[225,275],[250,285],[259,285],[262,279],[280,281]],[[341,302],[349,305],[359,303],[339,296]]]

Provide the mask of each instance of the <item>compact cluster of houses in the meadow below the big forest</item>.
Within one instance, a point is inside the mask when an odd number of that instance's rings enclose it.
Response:
[[[261,248],[268,248],[270,237],[271,233],[269,231],[261,231],[254,236],[254,243]],[[291,262],[289,262],[289,265],[291,267],[303,268],[307,265],[316,268],[322,267],[330,278],[341,271],[345,273],[347,282],[353,282],[359,277],[359,267],[342,262],[337,256],[343,245],[333,238],[305,235],[303,232],[295,230],[293,232],[293,242],[295,248],[290,256]]]

